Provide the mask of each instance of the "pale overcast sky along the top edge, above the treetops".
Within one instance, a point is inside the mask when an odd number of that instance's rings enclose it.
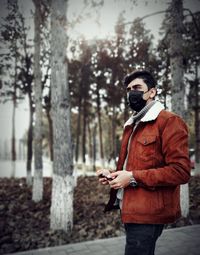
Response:
[[[56,1],[56,0],[55,0]],[[101,0],[96,0],[96,2]],[[133,1],[132,1],[133,2]],[[107,37],[114,34],[114,25],[119,13],[124,10],[126,21],[133,21],[137,17],[154,13],[157,11],[166,10],[170,0],[137,0],[138,4],[134,5],[131,0],[104,0],[102,7],[98,9],[98,14],[93,13],[91,17],[85,17],[81,24],[77,24],[70,34],[79,36],[83,34],[86,38]],[[6,14],[6,0],[0,0],[0,17]],[[24,13],[27,22],[31,20],[33,4],[31,0],[19,0],[20,8]],[[146,4],[147,3],[147,4]],[[185,0],[183,1],[185,8],[190,8],[191,11],[200,10],[200,0]],[[72,21],[80,14],[86,14],[91,9],[84,8],[84,0],[69,0],[67,17]],[[152,30],[152,33],[157,37],[164,14],[158,14],[144,20],[147,28]],[[98,20],[98,24],[97,21]]]

